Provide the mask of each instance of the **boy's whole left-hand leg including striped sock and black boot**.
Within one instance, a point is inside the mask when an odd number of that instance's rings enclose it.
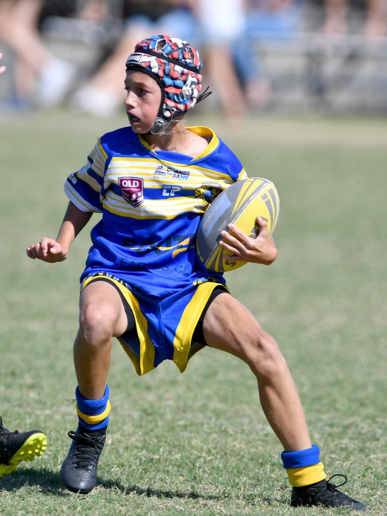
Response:
[[[69,432],[72,443],[60,469],[62,482],[75,493],[89,493],[95,486],[110,412],[106,380],[111,340],[126,327],[125,310],[115,287],[105,281],[89,283],[80,295],[74,342],[79,424],[75,432]]]

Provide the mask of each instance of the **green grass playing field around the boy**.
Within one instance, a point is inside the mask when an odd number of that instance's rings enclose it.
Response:
[[[385,515],[387,121],[206,122],[250,175],[273,180],[281,198],[277,261],[229,273],[230,289],[277,338],[328,474],[347,475],[343,490],[367,503],[368,514]],[[78,276],[91,225],[64,263],[29,260],[25,248],[56,236],[66,176],[100,134],[125,123],[62,112],[0,123],[0,414],[7,428],[39,428],[49,441],[41,458],[0,480],[0,514],[350,513],[289,506],[282,449],[255,379],[244,363],[212,349],[184,375],[164,363],[139,378],[115,343],[98,487],[87,496],[62,488],[67,431],[76,424]]]

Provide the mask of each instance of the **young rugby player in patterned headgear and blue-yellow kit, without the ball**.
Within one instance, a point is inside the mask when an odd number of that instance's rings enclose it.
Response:
[[[195,236],[208,193],[246,178],[238,158],[207,127],[183,116],[202,100],[202,63],[187,42],[169,36],[140,41],[126,61],[125,106],[131,126],[98,140],[87,164],[71,174],[70,199],[57,238],[27,254],[45,262],[67,258],[93,212],[92,247],[82,273],[74,343],[78,428],[61,478],[74,492],[95,486],[109,421],[106,385],[112,337],[139,375],[173,360],[181,372],[205,345],[244,360],[256,376],[262,408],[284,451],[292,505],[365,506],[326,480],[311,444],[301,402],[273,337],[229,294],[221,273],[198,260]],[[204,195],[205,193],[205,195]],[[277,249],[266,222],[251,239],[232,227],[221,245],[232,260],[269,265]]]

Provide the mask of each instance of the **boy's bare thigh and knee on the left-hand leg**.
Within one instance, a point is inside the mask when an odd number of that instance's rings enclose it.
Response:
[[[126,331],[127,315],[117,289],[107,281],[94,280],[80,293],[79,313],[83,317],[104,318],[112,326],[112,335]]]

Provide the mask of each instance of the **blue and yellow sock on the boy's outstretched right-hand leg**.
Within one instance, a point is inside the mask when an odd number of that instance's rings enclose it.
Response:
[[[283,451],[281,459],[293,487],[310,486],[327,477],[319,459],[320,449],[315,444],[299,451]]]

